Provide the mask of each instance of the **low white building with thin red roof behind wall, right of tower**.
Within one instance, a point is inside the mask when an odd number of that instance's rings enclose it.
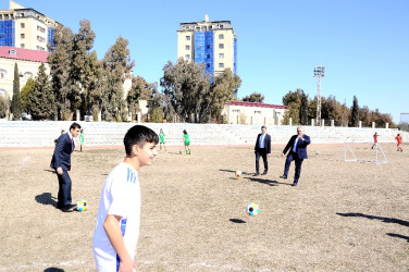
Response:
[[[280,125],[287,109],[281,104],[230,101],[222,114],[228,124]]]

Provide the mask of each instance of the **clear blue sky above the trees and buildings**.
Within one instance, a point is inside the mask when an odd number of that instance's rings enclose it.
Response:
[[[8,9],[2,0],[0,9]],[[16,0],[78,32],[88,18],[102,59],[119,36],[129,41],[134,75],[159,82],[168,61],[177,58],[179,23],[231,21],[238,42],[241,98],[253,91],[281,104],[288,90],[317,95],[315,65],[325,65],[321,94],[350,107],[409,112],[408,0]],[[406,78],[406,79],[405,79]]]

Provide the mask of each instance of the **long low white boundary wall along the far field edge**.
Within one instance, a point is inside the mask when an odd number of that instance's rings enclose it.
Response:
[[[73,121],[0,121],[0,147],[27,148],[53,147],[61,131],[69,131]],[[122,146],[127,129],[137,123],[77,122],[84,128],[85,145],[94,147]],[[252,146],[260,125],[191,124],[191,123],[141,123],[159,134],[163,128],[168,146],[183,146],[183,129],[189,134],[193,146]],[[268,126],[273,145],[286,144],[296,134],[297,126]],[[319,127],[303,126],[312,144],[373,143],[373,134],[379,134],[379,143],[396,143],[399,133],[404,144],[409,141],[409,133],[397,128]],[[78,140],[78,139],[76,139]],[[78,143],[77,143],[78,144]]]

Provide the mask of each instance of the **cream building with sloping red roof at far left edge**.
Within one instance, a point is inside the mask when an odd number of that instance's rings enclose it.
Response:
[[[46,73],[49,73],[47,63],[49,54],[46,51],[0,46],[0,96],[10,99],[13,96],[14,63],[18,66],[20,89],[22,89],[29,77],[37,76],[41,63],[45,63]]]

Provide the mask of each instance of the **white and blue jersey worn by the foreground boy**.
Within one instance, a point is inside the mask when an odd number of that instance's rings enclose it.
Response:
[[[106,180],[94,233],[94,256],[98,271],[117,271],[120,258],[109,240],[103,223],[108,214],[121,217],[125,247],[135,258],[140,225],[140,187],[138,172],[122,162]]]

